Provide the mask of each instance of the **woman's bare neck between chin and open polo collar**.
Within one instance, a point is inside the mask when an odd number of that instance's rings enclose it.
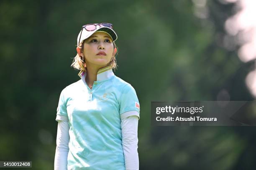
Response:
[[[105,67],[105,66],[104,66]],[[86,65],[86,77],[85,82],[89,87],[92,87],[93,83],[97,81],[97,72],[103,68],[102,66]]]

